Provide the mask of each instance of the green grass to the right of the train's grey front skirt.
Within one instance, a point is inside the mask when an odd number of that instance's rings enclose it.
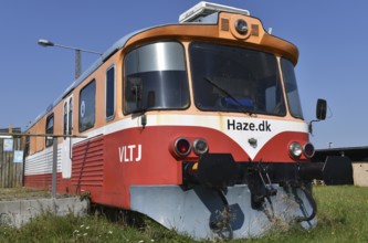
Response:
[[[291,226],[254,242],[368,242],[368,188],[322,186],[314,188],[314,197],[318,207],[316,229]]]

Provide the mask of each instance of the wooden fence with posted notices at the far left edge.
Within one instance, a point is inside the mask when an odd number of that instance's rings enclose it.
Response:
[[[12,131],[20,133],[20,128],[13,128]],[[0,133],[8,133],[8,129],[0,129]],[[0,188],[22,187],[22,155],[21,138],[0,137]]]

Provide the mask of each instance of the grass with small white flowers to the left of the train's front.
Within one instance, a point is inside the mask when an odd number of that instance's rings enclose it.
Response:
[[[17,230],[0,226],[0,242],[190,242],[155,222],[145,219],[134,226],[112,222],[104,215],[76,218],[72,214],[54,216],[43,214]]]

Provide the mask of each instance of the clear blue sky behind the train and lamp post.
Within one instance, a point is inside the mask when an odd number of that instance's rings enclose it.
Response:
[[[0,128],[25,128],[74,78],[74,52],[39,39],[106,51],[138,29],[175,23],[194,0],[1,0]],[[306,120],[328,101],[328,119],[314,124],[317,148],[368,146],[368,1],[213,0],[250,10],[265,29],[299,50],[296,66]],[[82,54],[86,70],[97,56]]]

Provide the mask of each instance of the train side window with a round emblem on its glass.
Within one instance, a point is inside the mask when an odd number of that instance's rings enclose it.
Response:
[[[80,93],[80,133],[95,125],[96,82],[93,80]]]

